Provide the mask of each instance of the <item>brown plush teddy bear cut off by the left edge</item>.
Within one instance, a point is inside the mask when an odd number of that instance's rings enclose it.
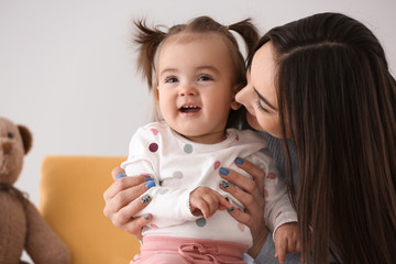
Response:
[[[32,146],[26,127],[0,117],[0,263],[21,264],[23,250],[35,264],[68,264],[70,252],[25,194],[13,186]]]

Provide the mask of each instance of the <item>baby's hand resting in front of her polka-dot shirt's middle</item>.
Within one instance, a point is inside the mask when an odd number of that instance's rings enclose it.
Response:
[[[232,205],[216,190],[200,186],[190,194],[190,210],[194,216],[210,218],[217,210],[233,208]]]

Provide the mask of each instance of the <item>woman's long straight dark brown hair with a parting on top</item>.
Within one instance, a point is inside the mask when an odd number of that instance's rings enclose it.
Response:
[[[383,47],[340,13],[275,28],[256,50],[267,42],[298,158],[304,262],[395,262],[396,82]]]

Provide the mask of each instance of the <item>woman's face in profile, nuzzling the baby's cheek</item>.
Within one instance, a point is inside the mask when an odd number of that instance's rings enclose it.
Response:
[[[246,119],[253,129],[282,138],[275,70],[273,46],[267,42],[255,53],[248,70],[248,85],[237,94],[235,99],[245,106]]]

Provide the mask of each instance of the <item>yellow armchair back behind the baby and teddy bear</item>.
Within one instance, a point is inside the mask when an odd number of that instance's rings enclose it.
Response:
[[[47,156],[43,161],[38,208],[68,245],[73,264],[127,264],[140,252],[139,241],[103,216],[111,169],[124,160]]]

